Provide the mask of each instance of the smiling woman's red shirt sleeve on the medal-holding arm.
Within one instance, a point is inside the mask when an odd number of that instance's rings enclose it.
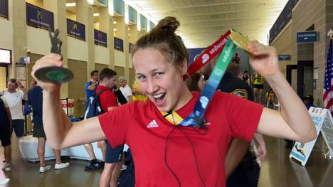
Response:
[[[238,139],[251,141],[258,128],[263,105],[245,100],[228,93],[220,94],[223,97],[221,105],[225,107],[226,118],[231,135]]]

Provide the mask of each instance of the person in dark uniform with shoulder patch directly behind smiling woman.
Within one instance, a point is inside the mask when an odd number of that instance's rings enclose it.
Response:
[[[211,75],[216,65],[216,59],[213,59],[211,63],[203,68],[203,72],[208,76]],[[251,87],[239,78],[240,74],[239,65],[230,63],[217,90],[229,92],[252,101],[253,92]],[[255,151],[254,140],[258,142],[258,151]],[[255,133],[251,144],[243,139],[233,137],[226,154],[226,186],[258,186],[260,165],[257,159],[263,160],[266,154],[267,150],[263,135]]]

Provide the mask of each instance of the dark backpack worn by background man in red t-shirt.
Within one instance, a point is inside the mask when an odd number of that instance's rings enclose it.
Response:
[[[98,93],[94,93],[92,97],[90,97],[89,105],[87,109],[85,109],[85,116],[83,119],[88,119],[90,117],[96,117],[102,113],[104,113],[102,107],[100,106],[100,94],[106,90],[100,90]]]

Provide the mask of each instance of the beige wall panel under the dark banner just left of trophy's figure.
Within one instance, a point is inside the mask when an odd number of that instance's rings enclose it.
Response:
[[[38,55],[46,55],[50,53],[51,41],[48,36],[48,31],[41,28],[26,26],[26,46],[31,50],[31,53]]]

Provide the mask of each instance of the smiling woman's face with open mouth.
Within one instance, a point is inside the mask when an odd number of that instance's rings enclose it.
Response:
[[[186,87],[182,78],[186,73],[186,62],[182,70],[179,70],[159,50],[144,48],[134,53],[133,66],[142,93],[160,111],[179,108],[181,92]]]

